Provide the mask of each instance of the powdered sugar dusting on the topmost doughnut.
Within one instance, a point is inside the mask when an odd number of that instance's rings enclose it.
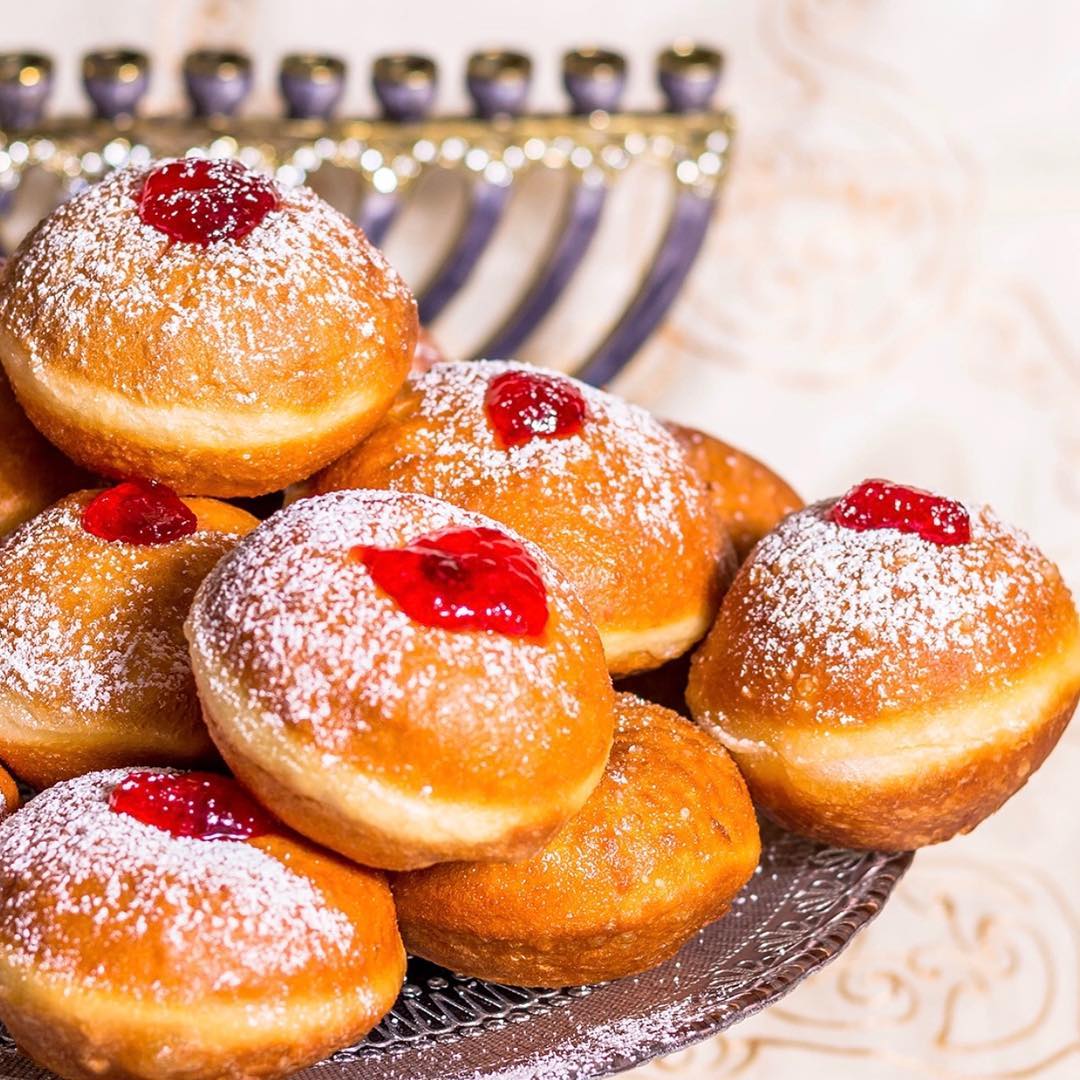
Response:
[[[345,215],[309,188],[279,186],[276,208],[242,240],[175,242],[137,213],[144,179],[160,164],[126,166],[59,206],[13,257],[0,321],[39,375],[57,360],[85,370],[110,339],[151,360],[171,347],[201,350],[214,374],[98,363],[94,377],[135,399],[168,386],[189,405],[222,392],[251,405],[268,381],[285,382],[278,389],[288,400],[325,378],[319,355],[298,363],[324,333],[351,339],[342,366],[381,342],[375,305],[408,291]],[[372,295],[373,284],[381,293]]]

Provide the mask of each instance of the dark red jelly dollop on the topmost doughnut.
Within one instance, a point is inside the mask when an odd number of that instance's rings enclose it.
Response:
[[[143,183],[138,215],[173,240],[243,240],[278,206],[273,180],[229,158],[181,158]]]

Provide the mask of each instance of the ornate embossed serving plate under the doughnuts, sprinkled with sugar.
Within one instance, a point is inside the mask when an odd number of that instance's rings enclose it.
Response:
[[[578,1080],[681,1050],[785,995],[881,910],[912,854],[825,848],[766,824],[731,912],[667,963],[598,986],[536,990],[409,962],[397,1003],[359,1047],[297,1080]],[[51,1076],[0,1032],[0,1076]]]

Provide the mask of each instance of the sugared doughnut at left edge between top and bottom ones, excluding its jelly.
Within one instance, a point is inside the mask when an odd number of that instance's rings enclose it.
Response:
[[[199,583],[257,522],[188,499],[197,531],[140,546],[70,495],[0,542],[0,758],[43,787],[92,769],[214,759],[184,639]]]

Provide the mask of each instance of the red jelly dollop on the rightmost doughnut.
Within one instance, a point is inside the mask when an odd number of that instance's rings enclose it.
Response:
[[[899,529],[946,546],[971,539],[971,518],[962,503],[885,480],[863,481],[829,516],[847,529]]]

